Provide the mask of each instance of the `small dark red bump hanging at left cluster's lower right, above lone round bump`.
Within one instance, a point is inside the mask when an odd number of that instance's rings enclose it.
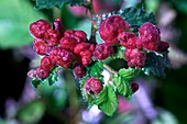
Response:
[[[86,67],[81,64],[76,64],[73,72],[76,78],[82,78],[86,75]]]

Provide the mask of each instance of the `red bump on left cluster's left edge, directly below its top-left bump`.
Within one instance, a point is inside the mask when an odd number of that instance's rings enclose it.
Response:
[[[45,43],[45,41],[43,41],[43,40],[35,38],[34,43],[33,43],[33,47],[38,55],[46,55],[47,54],[48,46]]]

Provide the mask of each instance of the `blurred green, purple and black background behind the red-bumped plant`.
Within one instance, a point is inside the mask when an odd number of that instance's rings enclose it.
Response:
[[[38,19],[53,22],[61,16],[65,29],[84,30],[89,36],[90,23],[82,8],[36,10],[33,0],[1,0],[0,7],[0,124],[187,124],[186,0],[96,0],[98,13],[128,7],[153,12],[162,40],[170,44],[172,67],[166,78],[140,76],[140,93],[130,101],[122,99],[112,117],[87,109],[78,80],[69,70],[62,70],[54,86],[41,84],[37,91],[26,76],[40,60],[32,49],[29,25]],[[99,36],[97,40],[100,42]],[[110,65],[118,68],[122,64],[116,60]]]

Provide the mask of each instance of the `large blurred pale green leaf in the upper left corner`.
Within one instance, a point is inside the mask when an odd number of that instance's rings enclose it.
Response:
[[[46,16],[34,10],[29,0],[0,0],[0,48],[32,44],[30,24]]]

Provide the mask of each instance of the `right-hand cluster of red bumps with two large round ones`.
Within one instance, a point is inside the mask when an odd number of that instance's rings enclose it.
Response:
[[[139,29],[139,36],[130,32],[131,25],[120,15],[112,15],[101,22],[99,34],[106,44],[119,44],[125,47],[128,66],[141,68],[146,59],[146,50],[166,52],[169,44],[160,41],[160,30],[150,22]]]

